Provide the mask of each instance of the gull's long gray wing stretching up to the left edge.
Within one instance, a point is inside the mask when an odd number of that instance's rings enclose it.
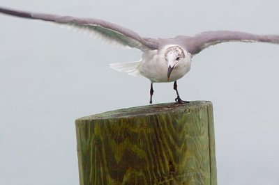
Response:
[[[152,38],[142,38],[140,35],[126,29],[122,26],[105,22],[100,19],[78,18],[70,16],[50,15],[43,13],[29,13],[20,10],[12,10],[8,8],[1,8],[0,13],[13,15],[16,17],[24,17],[28,19],[40,19],[48,22],[55,22],[58,24],[66,24],[77,27],[78,29],[85,29],[86,31],[93,31],[101,35],[106,40],[116,42],[126,47],[135,47],[142,51],[147,49],[157,49],[158,41]]]

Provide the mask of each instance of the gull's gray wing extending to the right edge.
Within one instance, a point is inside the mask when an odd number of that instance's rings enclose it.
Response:
[[[279,44],[279,35],[255,35],[239,31],[206,31],[193,37],[184,37],[190,54],[198,54],[202,49],[222,42],[270,42]]]

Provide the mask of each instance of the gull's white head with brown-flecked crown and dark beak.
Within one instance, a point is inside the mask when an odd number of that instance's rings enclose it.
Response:
[[[167,47],[165,51],[165,61],[167,62],[167,81],[169,81],[169,76],[172,73],[172,70],[186,61],[185,54],[186,52],[184,49],[177,45]]]

